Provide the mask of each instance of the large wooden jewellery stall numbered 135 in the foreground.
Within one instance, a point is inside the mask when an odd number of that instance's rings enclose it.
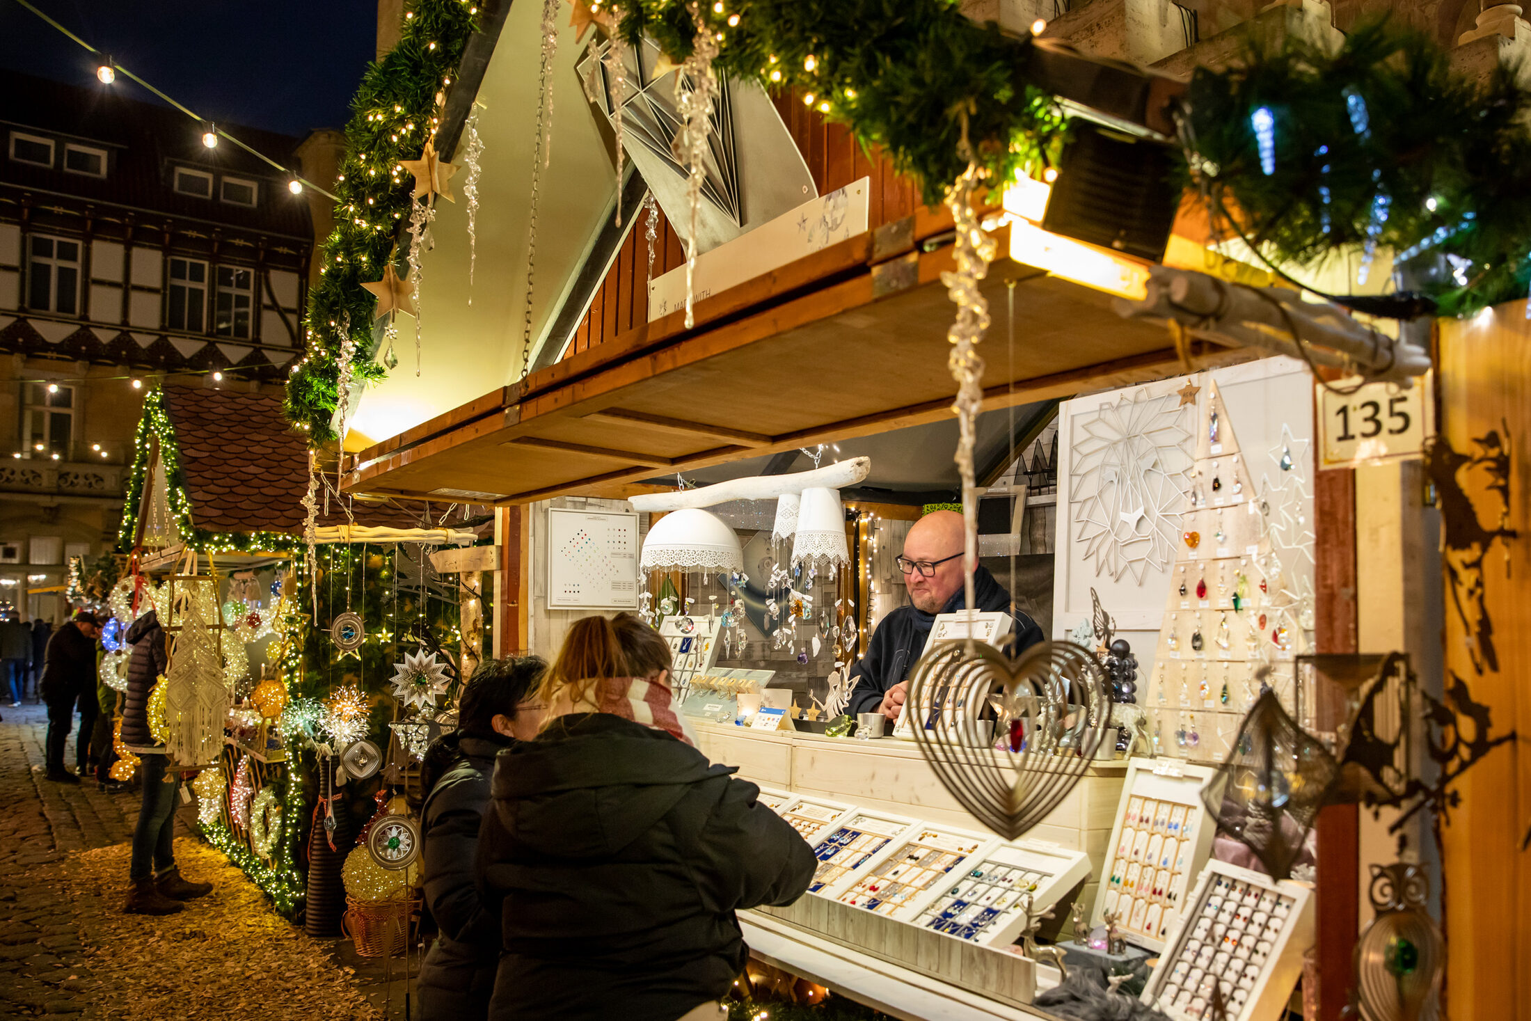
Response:
[[[894,6],[409,5],[288,416],[666,638],[738,1016],[1526,1016],[1531,26]]]

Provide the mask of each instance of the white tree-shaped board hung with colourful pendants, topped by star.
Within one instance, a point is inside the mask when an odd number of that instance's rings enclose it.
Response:
[[[1292,658],[1297,628],[1278,608],[1254,473],[1209,378],[1188,499],[1144,707],[1160,755],[1222,761],[1262,683],[1289,703],[1291,674],[1271,666]]]

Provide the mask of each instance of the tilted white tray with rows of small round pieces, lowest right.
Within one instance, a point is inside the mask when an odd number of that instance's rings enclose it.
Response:
[[[1307,886],[1208,862],[1142,1003],[1176,1021],[1209,1021],[1214,987],[1220,987],[1228,1021],[1277,1021],[1312,944]]]

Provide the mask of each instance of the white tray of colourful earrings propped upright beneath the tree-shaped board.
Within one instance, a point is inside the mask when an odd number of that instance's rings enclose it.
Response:
[[[1191,877],[1206,863],[1214,827],[1202,785],[1214,770],[1188,762],[1131,759],[1090,925],[1116,914],[1116,928],[1157,951],[1183,911]]]

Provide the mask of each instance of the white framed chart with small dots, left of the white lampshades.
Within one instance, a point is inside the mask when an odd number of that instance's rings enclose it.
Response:
[[[548,511],[548,606],[634,609],[638,516]]]

